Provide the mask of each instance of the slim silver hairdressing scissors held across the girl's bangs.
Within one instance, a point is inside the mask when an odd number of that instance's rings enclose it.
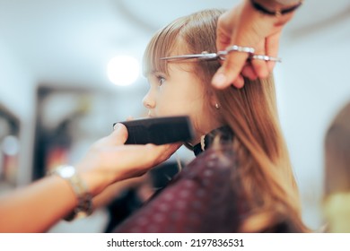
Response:
[[[165,56],[161,57],[161,60],[167,60],[167,61],[179,61],[179,60],[188,60],[188,59],[199,59],[204,61],[211,61],[211,60],[225,60],[226,56],[232,52],[232,51],[238,51],[238,52],[245,52],[249,54],[248,59],[249,60],[264,60],[264,61],[274,61],[274,62],[282,62],[280,57],[275,56],[267,56],[267,55],[257,55],[254,54],[255,50],[254,48],[249,47],[240,47],[233,45],[232,47],[226,48],[225,50],[221,50],[214,53],[209,53],[207,51],[203,51],[199,54],[187,54],[187,55],[179,55],[179,56]]]

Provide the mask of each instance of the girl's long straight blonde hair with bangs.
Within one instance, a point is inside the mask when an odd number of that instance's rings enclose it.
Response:
[[[215,52],[216,23],[222,13],[221,10],[193,13],[158,31],[144,54],[144,74],[168,73],[167,64],[171,63],[160,60],[163,56]],[[240,193],[249,206],[249,215],[240,230],[265,231],[287,220],[293,231],[306,231],[298,188],[278,122],[273,78],[246,79],[240,90],[233,87],[215,90],[211,80],[220,63],[197,61],[192,65],[194,73],[206,84],[207,94],[214,95],[221,106],[206,108],[212,109],[211,113],[235,134],[232,147],[239,168],[232,184],[240,184]]]

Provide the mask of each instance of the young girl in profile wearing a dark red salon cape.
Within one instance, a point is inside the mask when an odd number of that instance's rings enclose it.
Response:
[[[150,117],[188,115],[197,159],[118,232],[301,232],[298,189],[278,124],[272,78],[214,90],[217,60],[163,57],[215,52],[218,10],[158,31],[146,48]],[[235,52],[240,53],[240,52]]]

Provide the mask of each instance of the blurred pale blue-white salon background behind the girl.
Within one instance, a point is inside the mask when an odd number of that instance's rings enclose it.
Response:
[[[146,80],[136,74],[129,85],[113,84],[110,59],[132,56],[141,64],[148,40],[163,25],[238,2],[0,0],[0,194],[29,184],[44,167],[78,160],[114,122],[144,115]],[[350,3],[307,0],[280,46],[283,63],[275,71],[280,118],[303,218],[312,229],[323,224],[324,134],[350,100],[349,45]],[[129,69],[137,73],[136,66]],[[181,150],[179,157],[188,161],[192,155]],[[101,231],[106,219],[99,217],[57,231]]]

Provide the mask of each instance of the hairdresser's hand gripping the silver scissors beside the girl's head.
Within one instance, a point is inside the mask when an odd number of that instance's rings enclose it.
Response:
[[[248,0],[223,13],[216,30],[217,50],[238,45],[255,48],[255,54],[277,56],[278,44],[284,24],[293,17],[288,13],[280,17],[258,13]],[[251,80],[265,78],[275,66],[263,60],[247,61],[248,54],[231,52],[213,78],[213,85],[224,89],[231,84],[237,88],[244,85],[243,77]]]

